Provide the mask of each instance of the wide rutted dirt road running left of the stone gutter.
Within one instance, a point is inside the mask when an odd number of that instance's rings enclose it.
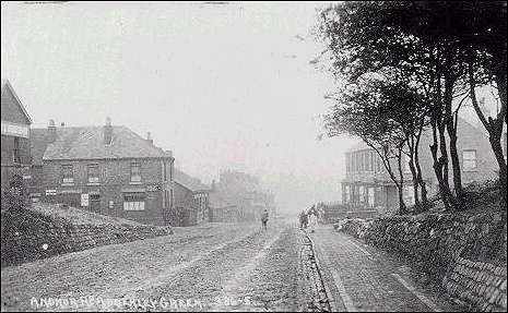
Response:
[[[299,311],[297,249],[285,224],[177,229],[4,268],[2,300],[14,301],[2,311]],[[90,296],[104,302],[31,306],[32,297]]]

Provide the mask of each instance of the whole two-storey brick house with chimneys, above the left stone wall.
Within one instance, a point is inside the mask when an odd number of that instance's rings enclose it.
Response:
[[[32,130],[33,197],[142,224],[168,225],[170,152],[121,125]]]

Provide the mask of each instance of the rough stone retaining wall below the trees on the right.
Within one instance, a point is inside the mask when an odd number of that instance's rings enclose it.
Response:
[[[335,228],[401,253],[472,310],[507,309],[506,213],[345,220]]]

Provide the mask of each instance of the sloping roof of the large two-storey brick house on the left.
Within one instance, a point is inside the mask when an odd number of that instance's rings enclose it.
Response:
[[[32,129],[33,162],[58,159],[167,158],[168,153],[154,146],[127,127],[113,127],[110,144],[104,144],[104,127],[57,128],[55,143],[47,129]]]

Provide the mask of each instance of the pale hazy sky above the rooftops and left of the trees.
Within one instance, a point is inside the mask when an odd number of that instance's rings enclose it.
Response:
[[[110,117],[204,182],[244,170],[299,210],[339,200],[354,143],[317,140],[332,88],[309,64],[321,5],[2,2],[2,77],[33,127]]]

